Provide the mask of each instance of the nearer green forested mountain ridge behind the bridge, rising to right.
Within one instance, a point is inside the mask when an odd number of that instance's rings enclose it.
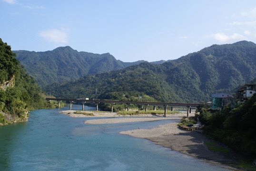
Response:
[[[202,103],[212,93],[229,93],[256,77],[256,44],[240,41],[213,45],[160,65],[140,63],[95,76],[84,76],[45,90],[56,97]],[[97,89],[97,95],[95,95]]]

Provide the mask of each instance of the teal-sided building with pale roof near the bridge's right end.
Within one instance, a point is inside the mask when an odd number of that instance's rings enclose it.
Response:
[[[212,109],[219,109],[226,107],[228,104],[231,103],[233,99],[233,95],[226,94],[226,93],[217,93],[212,94]]]

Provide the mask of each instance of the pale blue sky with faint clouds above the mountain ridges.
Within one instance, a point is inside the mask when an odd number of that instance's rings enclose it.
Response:
[[[0,0],[0,23],[12,50],[70,46],[151,62],[256,43],[256,0]]]

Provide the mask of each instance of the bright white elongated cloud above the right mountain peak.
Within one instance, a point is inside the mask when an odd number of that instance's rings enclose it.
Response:
[[[224,42],[231,42],[231,41],[240,41],[240,40],[245,40],[247,39],[246,37],[244,37],[243,35],[234,33],[231,36],[227,36],[223,33],[216,33],[216,34],[210,34],[207,36],[207,38],[214,38],[222,43]]]

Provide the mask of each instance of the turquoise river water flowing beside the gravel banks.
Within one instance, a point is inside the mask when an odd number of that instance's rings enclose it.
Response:
[[[68,107],[61,110],[68,110]],[[72,109],[80,110],[80,105]],[[95,110],[86,106],[87,110]],[[223,171],[145,139],[118,134],[170,121],[85,125],[58,109],[30,112],[27,123],[0,127],[0,171]]]

